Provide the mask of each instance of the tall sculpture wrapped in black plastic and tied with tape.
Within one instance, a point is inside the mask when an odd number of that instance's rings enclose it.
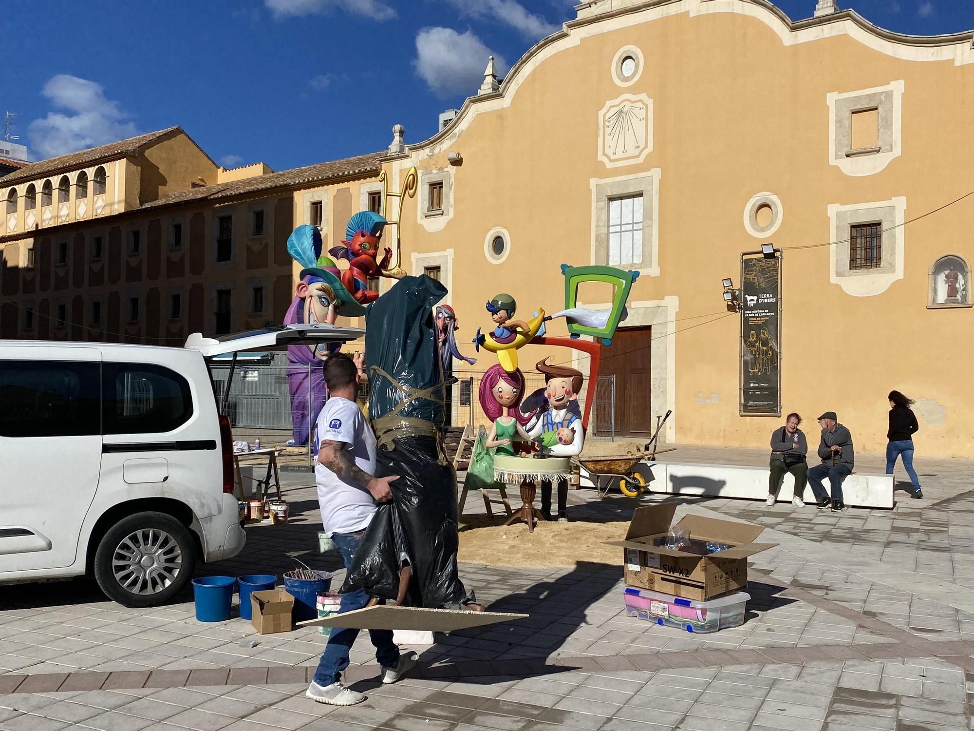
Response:
[[[445,295],[430,277],[405,277],[366,312],[376,476],[399,479],[390,484],[393,501],[380,505],[366,528],[342,587],[432,609],[472,600],[457,570],[457,475],[439,435],[449,384],[433,308]]]

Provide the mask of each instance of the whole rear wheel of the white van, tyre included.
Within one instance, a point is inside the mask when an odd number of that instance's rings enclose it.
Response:
[[[193,578],[196,543],[165,513],[136,513],[115,523],[94,554],[101,591],[123,606],[164,604]]]

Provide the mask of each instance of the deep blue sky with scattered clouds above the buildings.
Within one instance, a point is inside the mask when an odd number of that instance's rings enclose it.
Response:
[[[574,18],[574,0],[52,0],[0,5],[0,112],[35,159],[172,125],[228,167],[275,170],[436,131]],[[778,0],[792,19],[815,0]],[[890,30],[974,28],[974,0],[840,0]]]

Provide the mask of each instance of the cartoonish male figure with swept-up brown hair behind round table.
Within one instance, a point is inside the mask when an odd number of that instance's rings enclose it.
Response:
[[[575,439],[563,444],[557,442],[544,447],[543,454],[556,457],[572,457],[581,453],[581,443],[584,439],[581,430],[581,409],[579,408],[579,392],[583,377],[581,370],[568,368],[563,365],[548,365],[545,358],[535,365],[544,374],[544,398],[547,408],[540,412],[528,429],[531,439],[540,437],[545,432],[557,432],[559,429],[572,429]],[[568,520],[568,475],[558,479],[558,519]],[[542,481],[542,516],[545,520],[551,518],[551,481]]]

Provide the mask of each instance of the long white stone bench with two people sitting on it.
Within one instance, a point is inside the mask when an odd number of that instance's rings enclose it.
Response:
[[[640,462],[641,473],[650,491],[656,494],[705,497],[737,497],[748,500],[768,499],[768,467],[687,464],[679,462]],[[581,486],[594,486],[595,476],[581,468]],[[829,481],[823,481],[826,491]],[[790,503],[795,494],[795,478],[786,474],[778,490],[778,502]],[[805,487],[805,502],[814,496]],[[843,481],[843,502],[852,508],[893,507],[893,476],[853,472]]]

